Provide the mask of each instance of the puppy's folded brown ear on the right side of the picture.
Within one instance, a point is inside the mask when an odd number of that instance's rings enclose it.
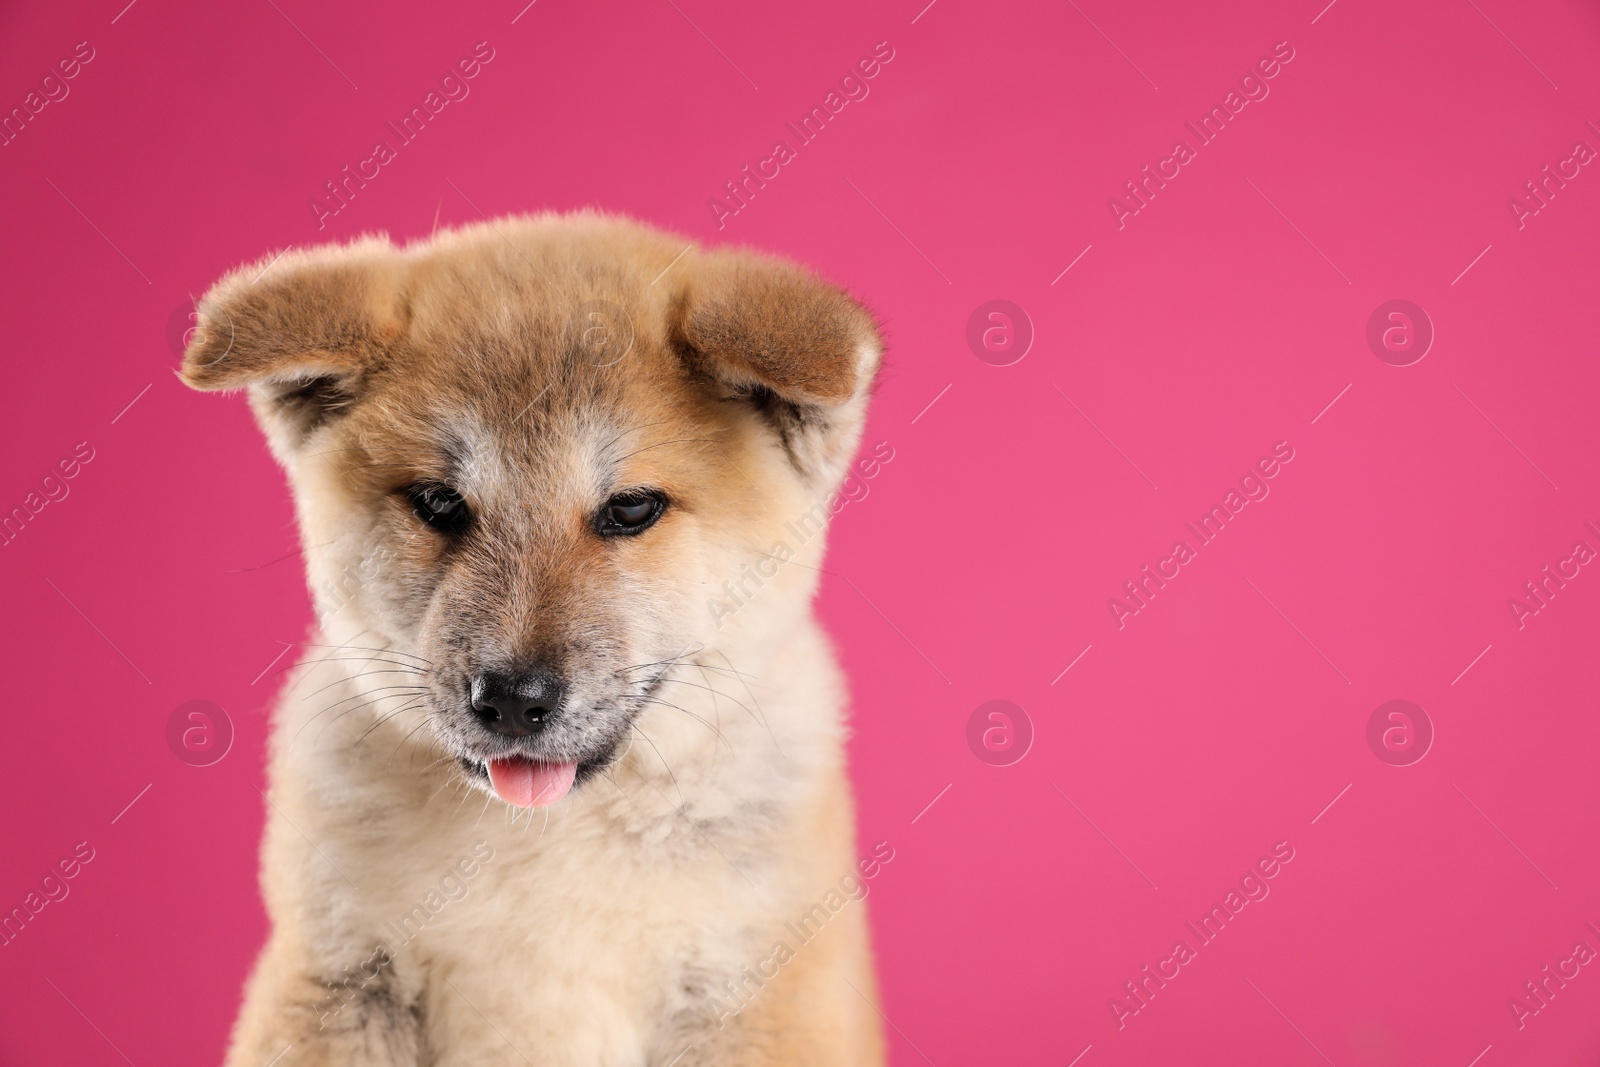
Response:
[[[872,315],[808,270],[754,253],[699,254],[682,277],[675,341],[690,366],[752,403],[803,475],[842,477],[883,354]]]

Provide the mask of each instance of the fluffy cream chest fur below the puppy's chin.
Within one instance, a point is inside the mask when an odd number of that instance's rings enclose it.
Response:
[[[406,1003],[418,1062],[666,1064],[754,1017],[774,945],[829,950],[794,926],[856,864],[814,627],[738,661],[757,672],[688,670],[603,781],[531,811],[469,790],[373,685],[394,675],[354,678],[358,643],[318,641],[274,736],[264,888],[326,961],[318,1032],[382,1033]]]

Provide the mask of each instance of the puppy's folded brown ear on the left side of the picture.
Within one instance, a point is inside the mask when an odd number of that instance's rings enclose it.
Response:
[[[405,338],[402,272],[382,238],[240,267],[200,299],[179,378],[203,390],[248,389],[261,429],[288,456],[360,397]]]

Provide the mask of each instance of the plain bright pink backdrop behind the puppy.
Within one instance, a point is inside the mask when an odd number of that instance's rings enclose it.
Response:
[[[94,448],[0,549],[0,907],[96,849],[0,949],[0,1062],[213,1064],[264,937],[256,678],[310,609],[282,477],[173,378],[171,312],[286,245],[582,205],[790,254],[885,323],[894,461],[821,609],[861,838],[896,849],[896,1064],[1600,1054],[1600,968],[1520,1030],[1507,1005],[1600,949],[1600,568],[1507,606],[1600,549],[1600,168],[1523,229],[1507,203],[1600,149],[1592,5],[123,3],[0,10],[5,109],[96,53],[0,149],[0,509]],[[482,40],[470,96],[318,232],[309,198]],[[1118,229],[1107,198],[1285,40]],[[722,182],[877,42],[870,96],[718,230]],[[1395,298],[1437,331],[1405,368],[1365,341]],[[989,299],[1034,323],[1016,365],[966,346]],[[1107,598],[1280,440],[1270,496],[1118,629]],[[214,766],[166,747],[189,699],[235,723]],[[968,749],[990,699],[1034,725],[1013,766]],[[1437,731],[1413,766],[1366,744],[1389,699]],[[1270,896],[1118,1029],[1277,841]]]

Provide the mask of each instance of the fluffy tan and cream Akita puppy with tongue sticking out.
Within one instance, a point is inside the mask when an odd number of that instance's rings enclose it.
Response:
[[[854,854],[822,537],[784,533],[880,352],[795,266],[598,214],[206,293],[182,378],[248,390],[341,590],[275,713],[229,1064],[883,1062],[893,849]]]

